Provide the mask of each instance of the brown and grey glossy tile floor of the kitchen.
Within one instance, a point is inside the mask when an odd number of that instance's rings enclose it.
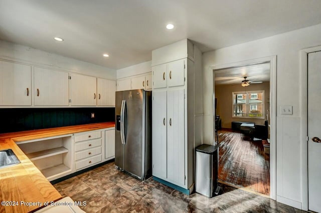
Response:
[[[113,162],[54,184],[63,197],[86,201],[86,212],[303,212],[299,209],[222,185],[208,198],[183,194],[152,178],[137,180],[118,171]]]

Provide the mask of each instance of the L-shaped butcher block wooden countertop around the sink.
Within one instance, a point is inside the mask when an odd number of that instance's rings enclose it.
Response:
[[[114,126],[114,122],[102,122],[0,134],[0,150],[11,148],[21,161],[0,168],[0,212],[30,212],[62,197],[15,142]]]

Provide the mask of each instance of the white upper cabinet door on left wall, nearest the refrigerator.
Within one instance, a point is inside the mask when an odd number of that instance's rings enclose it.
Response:
[[[97,78],[97,105],[115,106],[116,81]]]

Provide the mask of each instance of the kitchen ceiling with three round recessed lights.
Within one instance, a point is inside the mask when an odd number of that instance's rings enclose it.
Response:
[[[0,39],[119,69],[184,38],[205,52],[318,24],[320,11],[321,0],[0,0]]]

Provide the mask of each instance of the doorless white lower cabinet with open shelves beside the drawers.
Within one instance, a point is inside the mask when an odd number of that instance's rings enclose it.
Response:
[[[73,172],[71,135],[21,141],[17,144],[50,181]]]

